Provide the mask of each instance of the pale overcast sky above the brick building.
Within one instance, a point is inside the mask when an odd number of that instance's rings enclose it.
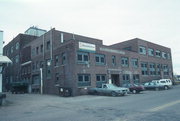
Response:
[[[111,45],[141,38],[171,48],[180,74],[180,0],[0,0],[7,44],[30,26],[75,33]]]

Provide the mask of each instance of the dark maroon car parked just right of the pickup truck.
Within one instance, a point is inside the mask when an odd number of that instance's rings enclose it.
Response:
[[[123,87],[129,88],[129,91],[134,94],[144,91],[144,87],[137,84],[124,84]]]

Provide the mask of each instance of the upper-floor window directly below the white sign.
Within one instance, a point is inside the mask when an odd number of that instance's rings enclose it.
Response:
[[[77,61],[78,63],[86,63],[89,61],[89,53],[86,52],[78,52],[77,53]]]

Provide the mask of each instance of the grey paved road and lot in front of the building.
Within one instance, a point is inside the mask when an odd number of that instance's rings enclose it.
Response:
[[[180,85],[127,96],[8,94],[0,121],[180,121]]]

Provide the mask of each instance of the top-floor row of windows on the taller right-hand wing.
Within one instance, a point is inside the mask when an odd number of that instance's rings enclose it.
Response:
[[[146,55],[148,54],[148,56],[155,56],[155,57],[162,57],[163,59],[170,59],[170,54],[166,53],[166,52],[161,52],[160,50],[154,50],[152,48],[148,48],[148,50],[146,50],[146,47],[144,46],[139,46],[139,53]]]

